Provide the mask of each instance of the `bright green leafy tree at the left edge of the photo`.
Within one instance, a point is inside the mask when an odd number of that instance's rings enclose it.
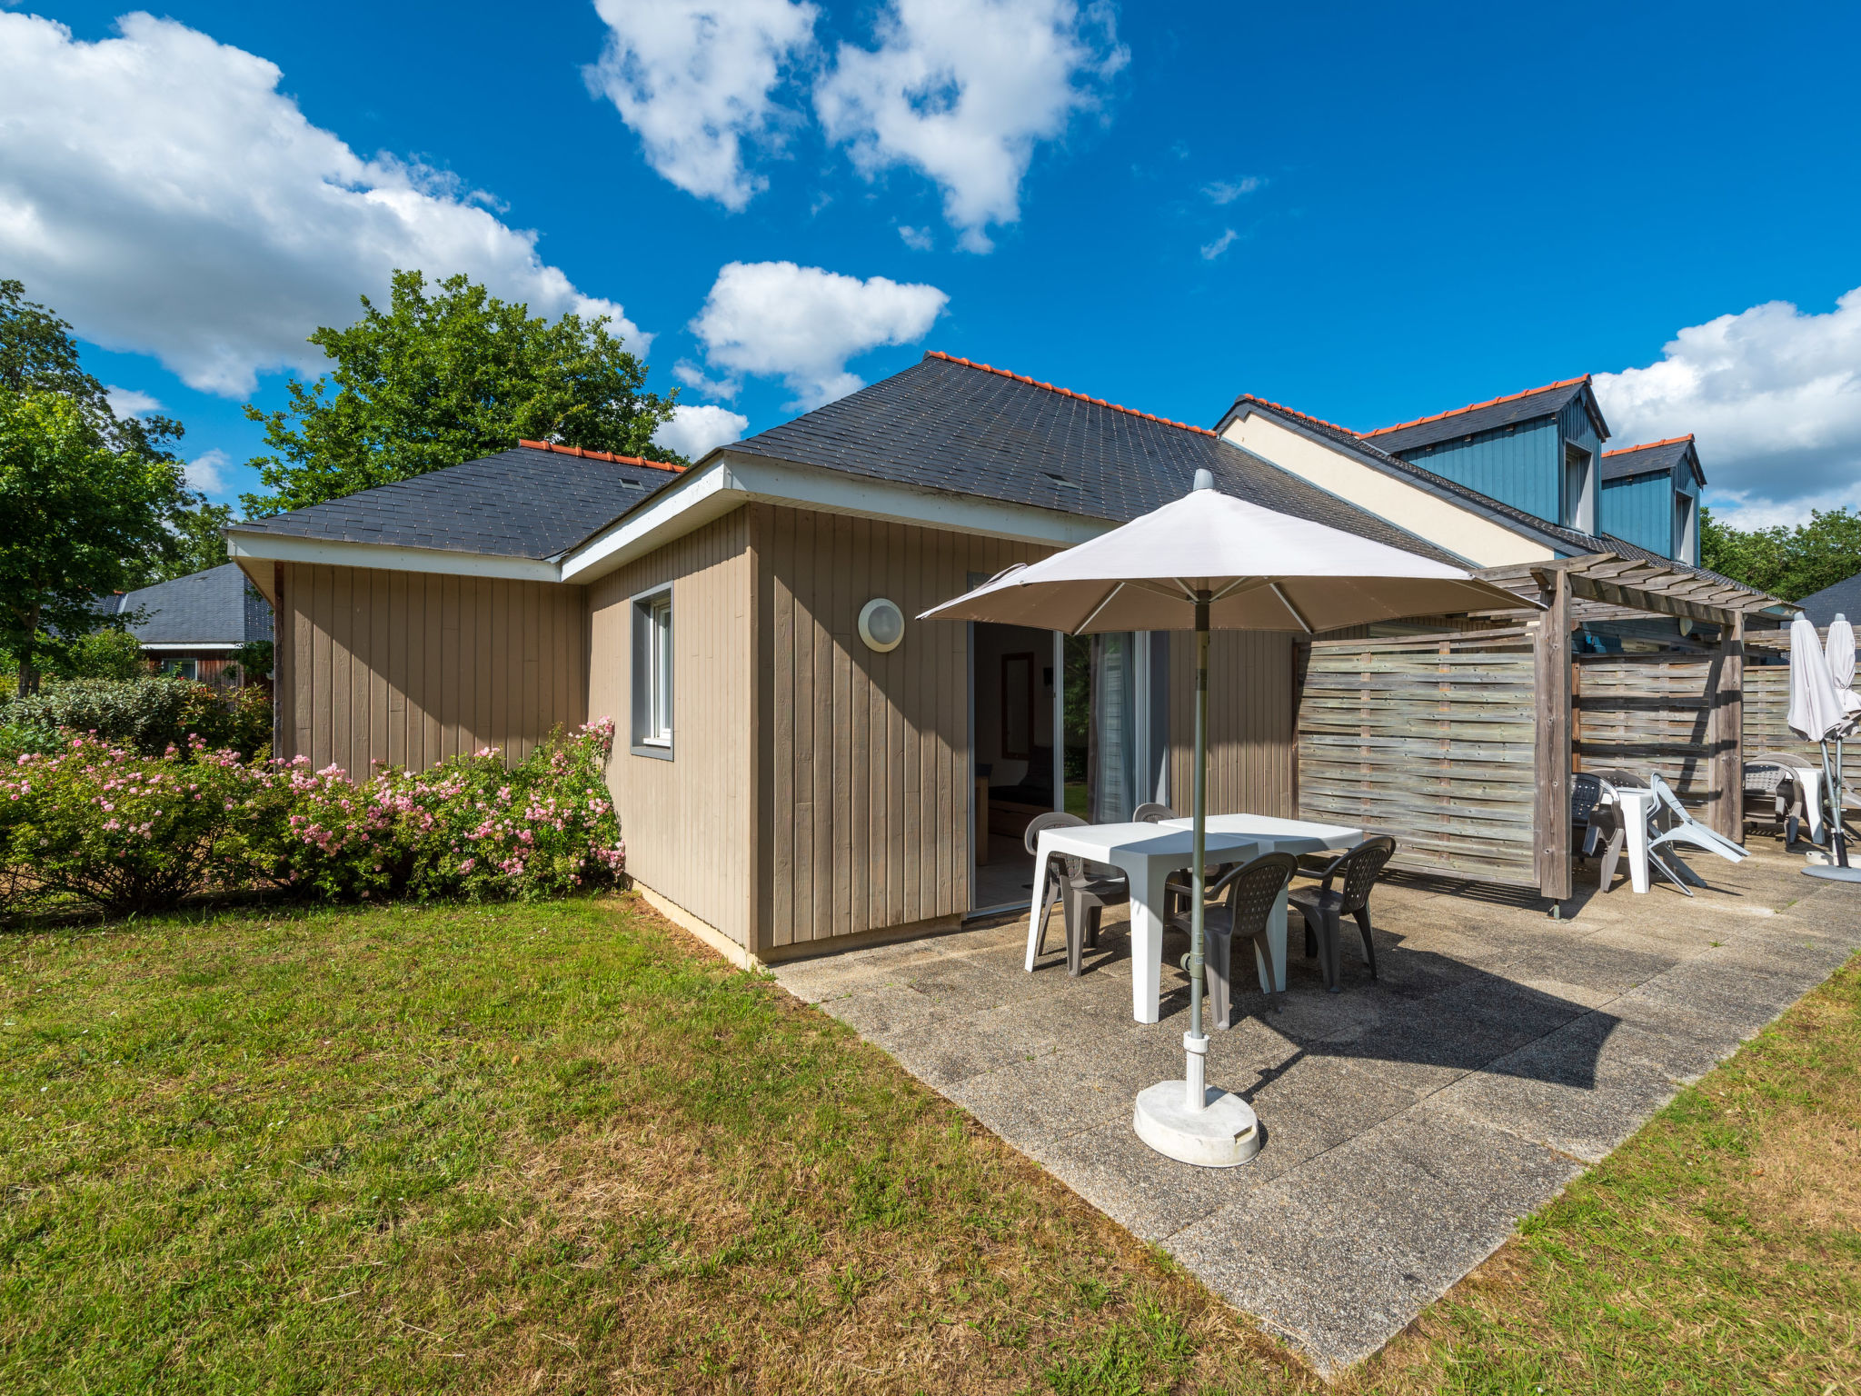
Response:
[[[112,445],[71,395],[0,389],[0,648],[20,694],[43,655],[121,624],[97,597],[166,545],[181,490],[177,462]]]

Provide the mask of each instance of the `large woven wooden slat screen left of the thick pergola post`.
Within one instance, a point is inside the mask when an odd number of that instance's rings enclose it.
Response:
[[[1537,886],[1530,635],[1318,640],[1299,815],[1394,834],[1394,867]]]

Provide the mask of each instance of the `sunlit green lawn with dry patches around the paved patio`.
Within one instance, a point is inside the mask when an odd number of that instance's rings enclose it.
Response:
[[[0,936],[0,1390],[1318,1390],[633,899]],[[1861,975],[1346,1390],[1854,1390]]]

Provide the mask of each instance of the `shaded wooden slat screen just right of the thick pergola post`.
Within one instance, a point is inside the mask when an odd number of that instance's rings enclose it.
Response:
[[[1574,767],[1649,771],[1673,785],[1688,804],[1710,810],[1708,758],[1718,750],[1712,732],[1716,657],[1595,655],[1576,661]],[[1753,670],[1746,670],[1746,681]],[[1749,717],[1746,718],[1749,722]]]

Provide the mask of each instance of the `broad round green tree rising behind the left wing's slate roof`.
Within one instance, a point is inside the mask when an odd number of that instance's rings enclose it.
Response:
[[[251,462],[274,491],[242,499],[253,517],[411,480],[519,439],[683,463],[653,445],[677,393],[646,391],[646,367],[607,331],[607,316],[551,324],[463,275],[428,290],[419,272],[395,272],[385,311],[367,296],[361,305],[348,329],[311,335],[335,363],[328,374],[292,380],[283,411],[246,406],[272,449]]]

